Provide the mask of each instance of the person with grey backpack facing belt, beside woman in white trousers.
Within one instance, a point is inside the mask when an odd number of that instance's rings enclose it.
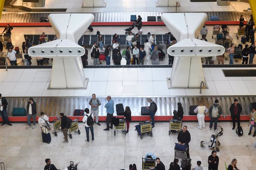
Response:
[[[220,118],[221,114],[222,114],[222,108],[219,105],[219,100],[216,99],[213,105],[211,105],[209,108],[209,117],[211,118],[210,130],[213,127],[213,121],[214,121],[214,131],[217,129],[218,119]]]

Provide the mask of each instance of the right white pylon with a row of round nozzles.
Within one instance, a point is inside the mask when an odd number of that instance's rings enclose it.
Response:
[[[178,41],[167,50],[175,56],[171,88],[199,88],[204,81],[201,58],[224,53],[222,46],[196,39],[206,18],[205,13],[162,14],[161,19]]]

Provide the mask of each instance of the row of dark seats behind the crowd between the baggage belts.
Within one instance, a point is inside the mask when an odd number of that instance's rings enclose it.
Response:
[[[40,35],[27,35],[29,36],[32,45],[38,45],[39,44],[39,37]],[[46,35],[48,40],[53,40],[54,35]],[[26,35],[24,35],[24,38]],[[127,35],[118,35],[119,37],[119,45],[120,47],[126,47],[128,45],[126,41]],[[148,39],[150,35],[139,35],[139,40],[141,44],[145,43],[145,40]],[[103,45],[112,45],[112,39],[113,35],[102,35],[103,38]],[[97,42],[98,35],[83,35],[79,40],[79,45],[86,45],[86,46],[92,46],[94,43]],[[155,35],[155,44],[159,44],[159,42],[163,43],[164,40],[171,40],[171,35],[169,34],[156,34]],[[170,41],[169,41],[170,44]]]

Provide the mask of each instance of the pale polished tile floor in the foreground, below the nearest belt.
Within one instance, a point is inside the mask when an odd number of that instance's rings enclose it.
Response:
[[[142,140],[134,131],[137,124],[138,122],[130,124],[126,136],[121,131],[114,136],[113,130],[103,130],[106,125],[101,122],[101,126],[94,125],[95,141],[87,143],[84,124],[79,123],[81,134],[72,133],[73,138],[69,139],[69,143],[62,143],[63,134],[58,132],[57,137],[51,134],[50,144],[42,142],[38,124],[35,129],[26,129],[27,123],[13,123],[12,127],[4,125],[0,127],[0,161],[5,163],[7,170],[43,169],[46,158],[50,158],[57,169],[61,170],[69,165],[69,161],[77,160],[81,161],[79,170],[128,170],[129,164],[133,163],[141,169],[142,157],[151,152],[160,157],[165,169],[168,169],[173,162],[174,143],[177,142],[177,134],[168,136],[169,122],[156,122],[153,137],[146,135]],[[200,147],[200,141],[210,140],[213,130],[209,130],[209,122],[206,122],[203,130],[197,129],[196,124],[197,122],[183,122],[191,134],[191,163],[194,167],[200,160],[203,169],[207,169],[207,158],[212,150]],[[255,170],[256,149],[251,146],[256,138],[247,135],[247,122],[241,123],[244,130],[242,137],[238,137],[232,130],[232,122],[219,122],[218,125],[224,129],[223,136],[220,137],[220,152],[217,153],[220,159],[219,170],[224,170],[224,162],[229,164],[234,158],[237,159],[240,170]]]

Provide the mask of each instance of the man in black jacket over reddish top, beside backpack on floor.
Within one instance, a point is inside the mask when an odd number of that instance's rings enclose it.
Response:
[[[237,127],[240,127],[240,114],[242,112],[242,106],[238,103],[237,99],[234,99],[234,103],[230,106],[229,111],[231,113],[231,118],[233,120],[233,128],[236,127],[236,120],[237,120]]]

